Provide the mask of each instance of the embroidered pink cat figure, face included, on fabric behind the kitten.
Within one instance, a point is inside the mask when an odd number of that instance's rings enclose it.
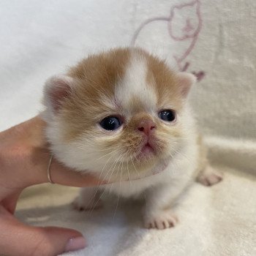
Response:
[[[178,15],[179,12],[186,11],[195,8],[195,16],[196,18],[187,17],[184,19],[184,15]],[[182,62],[189,56],[192,49],[195,47],[195,43],[197,42],[197,38],[200,34],[200,30],[202,28],[202,18],[200,15],[200,0],[194,0],[185,4],[177,4],[171,7],[170,16],[169,17],[155,17],[149,18],[140,24],[139,28],[135,31],[135,34],[132,37],[132,45],[135,45],[136,39],[138,39],[138,35],[140,31],[148,24],[153,21],[163,20],[167,21],[167,28],[170,37],[177,42],[186,42],[187,45],[184,47],[184,51],[180,53],[180,55],[173,55],[173,58],[176,60],[178,65],[178,69],[181,71],[187,71],[189,67],[189,62]],[[197,80],[201,80],[205,72],[192,72],[197,76]]]

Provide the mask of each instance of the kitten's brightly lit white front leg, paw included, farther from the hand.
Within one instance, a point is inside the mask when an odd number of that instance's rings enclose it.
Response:
[[[177,224],[178,218],[173,214],[171,206],[184,187],[172,185],[161,184],[146,192],[146,205],[143,209],[143,222],[146,228],[162,230]]]

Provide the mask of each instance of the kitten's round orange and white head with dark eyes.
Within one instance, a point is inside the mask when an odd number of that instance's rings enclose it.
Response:
[[[194,82],[138,48],[90,56],[46,82],[51,150],[65,165],[101,178],[145,176],[182,147]]]

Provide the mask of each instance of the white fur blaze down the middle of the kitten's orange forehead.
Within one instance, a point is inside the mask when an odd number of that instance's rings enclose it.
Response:
[[[148,113],[157,105],[157,94],[153,86],[148,86],[146,75],[148,65],[143,56],[133,53],[124,78],[116,86],[116,101],[127,112],[131,109],[132,99],[140,99],[141,107]],[[127,113],[129,116],[131,113]]]

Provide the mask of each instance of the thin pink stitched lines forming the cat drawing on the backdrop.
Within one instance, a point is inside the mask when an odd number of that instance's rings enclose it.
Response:
[[[195,32],[191,35],[189,34],[185,34],[184,37],[176,37],[173,34],[173,28],[172,28],[172,20],[174,17],[174,10],[178,9],[181,10],[184,7],[192,7],[196,4],[196,14],[197,14],[197,18],[198,18],[198,25],[197,25],[197,29],[195,30]],[[138,35],[140,34],[140,31],[148,24],[151,23],[153,21],[157,21],[157,20],[164,20],[168,22],[168,31],[170,34],[170,37],[173,38],[176,41],[183,41],[185,39],[192,39],[192,42],[189,45],[189,48],[187,48],[187,50],[185,51],[185,53],[181,56],[175,56],[173,55],[173,58],[176,60],[176,63],[178,65],[178,69],[180,69],[180,71],[186,71],[189,67],[189,62],[186,62],[184,64],[184,66],[182,66],[181,62],[184,61],[184,59],[186,59],[189,54],[191,53],[192,49],[195,47],[195,43],[197,41],[198,35],[200,33],[200,30],[202,28],[202,17],[200,14],[200,0],[195,0],[195,1],[191,1],[187,4],[178,4],[178,5],[174,5],[173,7],[171,7],[170,9],[170,16],[169,17],[156,17],[156,18],[149,18],[148,20],[145,20],[143,23],[140,24],[140,26],[138,27],[138,29],[135,31],[135,34],[132,37],[132,42],[131,45],[134,46],[135,45],[135,41],[136,39],[138,39]],[[190,20],[187,19],[186,20],[186,27],[184,28],[184,31],[192,31],[194,28],[192,27]],[[205,72],[203,71],[199,71],[199,72],[192,72],[194,75],[197,76],[197,80],[200,81],[203,79],[203,77],[205,76]]]

